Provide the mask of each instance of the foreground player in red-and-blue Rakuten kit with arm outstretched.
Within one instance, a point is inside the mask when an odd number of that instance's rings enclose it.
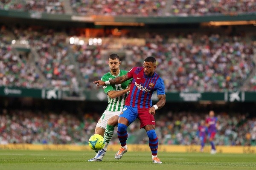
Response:
[[[97,86],[113,85],[133,78],[130,93],[118,120],[117,135],[122,147],[116,153],[116,159],[120,159],[127,152],[127,127],[138,118],[140,119],[140,128],[144,128],[148,135],[152,161],[156,164],[162,164],[157,157],[158,139],[155,132],[154,114],[157,109],[165,105],[166,96],[163,79],[155,73],[156,67],[156,59],[154,57],[147,57],[143,62],[143,67],[134,67],[122,77],[116,77],[105,82],[101,80],[94,82]],[[152,106],[151,96],[154,91],[157,91],[159,101],[156,105]]]

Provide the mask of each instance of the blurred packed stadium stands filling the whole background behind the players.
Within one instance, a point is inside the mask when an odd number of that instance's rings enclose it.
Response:
[[[87,144],[107,101],[92,82],[117,53],[124,70],[157,59],[161,144],[198,144],[218,109],[218,145],[256,145],[255,0],[1,0],[0,18],[3,144]],[[147,141],[139,122],[129,133]]]

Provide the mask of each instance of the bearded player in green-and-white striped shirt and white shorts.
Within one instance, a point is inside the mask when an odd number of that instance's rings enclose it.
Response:
[[[128,71],[120,70],[120,58],[117,54],[111,54],[108,59],[108,65],[110,71],[105,74],[101,80],[108,81],[119,76],[123,76]],[[130,90],[131,80],[127,80],[119,85],[105,85],[103,86],[104,92],[108,95],[108,107],[102,114],[99,122],[95,128],[95,134],[104,136],[105,146],[102,150],[99,150],[94,158],[88,161],[102,161],[103,156],[106,153],[108,144],[113,136],[114,127],[118,123],[119,115],[125,105],[125,99],[128,97]]]

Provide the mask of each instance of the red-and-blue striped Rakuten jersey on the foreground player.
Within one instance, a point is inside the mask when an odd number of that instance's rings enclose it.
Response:
[[[125,100],[126,106],[134,108],[151,108],[151,96],[154,91],[157,95],[165,94],[163,79],[154,72],[152,76],[144,74],[143,67],[134,67],[127,73],[129,78],[133,78],[129,96]]]

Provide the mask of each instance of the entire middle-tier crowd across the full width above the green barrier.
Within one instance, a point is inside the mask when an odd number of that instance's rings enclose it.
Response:
[[[6,29],[2,26],[3,30]],[[74,84],[79,87],[77,77],[84,78],[83,88],[96,89],[93,81],[100,79],[108,72],[107,61],[102,51],[128,51],[129,56],[122,60],[121,69],[130,70],[134,66],[141,66],[145,56],[154,56],[157,59],[157,73],[165,81],[166,91],[225,91],[243,88],[243,83],[255,67],[256,43],[244,34],[215,34],[215,33],[184,33],[153,34],[147,32],[140,35],[145,41],[142,44],[121,43],[133,38],[128,35],[116,37],[122,45],[113,45],[112,35],[103,37],[102,44],[94,45],[84,42],[82,45],[70,44],[73,35],[70,32],[55,31],[50,28],[12,27],[9,30],[16,40],[27,40],[29,45],[36,49],[39,58],[35,61],[41,73],[50,81],[49,87],[58,87],[69,90]],[[13,55],[11,38],[3,36],[2,53]],[[113,38],[113,37],[112,37]],[[6,41],[8,39],[8,42]],[[113,48],[115,46],[115,48]],[[5,52],[5,53],[6,53]],[[9,56],[9,57],[8,57]],[[71,57],[74,57],[72,62]],[[35,69],[26,64],[26,59],[16,58],[17,65],[23,65],[24,77],[31,77],[33,82],[38,79]],[[79,66],[76,71],[76,65]],[[7,65],[3,65],[3,70]],[[16,66],[14,66],[16,67]],[[15,77],[15,72],[11,72]],[[19,81],[19,80],[17,80]],[[22,81],[22,79],[21,79]],[[250,86],[245,90],[253,90]],[[22,82],[19,82],[22,84]],[[10,84],[11,85],[11,84]],[[18,85],[18,84],[17,84]],[[19,85],[18,85],[19,86]],[[24,85],[23,85],[24,86]],[[41,88],[44,85],[35,83],[27,87]]]

